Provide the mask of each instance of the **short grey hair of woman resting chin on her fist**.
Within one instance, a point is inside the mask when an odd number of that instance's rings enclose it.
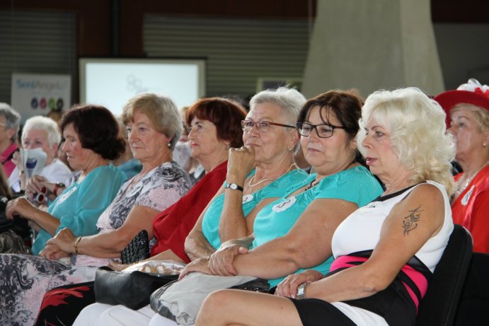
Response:
[[[295,88],[279,87],[276,90],[267,89],[256,93],[250,100],[250,110],[253,110],[255,105],[262,103],[273,103],[282,107],[287,118],[293,119],[288,123],[295,125],[299,111],[302,105],[306,103],[306,98]]]

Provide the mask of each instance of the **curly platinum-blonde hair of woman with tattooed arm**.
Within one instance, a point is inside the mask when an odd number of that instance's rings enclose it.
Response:
[[[357,135],[359,151],[365,153],[365,125],[374,120],[389,130],[394,152],[411,172],[410,182],[433,180],[444,185],[450,195],[454,191],[451,161],[455,158],[455,144],[447,133],[445,118],[442,107],[418,88],[376,91],[362,108]]]

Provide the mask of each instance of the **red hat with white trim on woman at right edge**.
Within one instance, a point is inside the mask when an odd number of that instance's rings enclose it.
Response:
[[[447,113],[447,126],[450,125],[450,110],[457,104],[468,103],[485,108],[489,111],[489,86],[481,85],[471,78],[454,91],[446,91],[434,98]]]

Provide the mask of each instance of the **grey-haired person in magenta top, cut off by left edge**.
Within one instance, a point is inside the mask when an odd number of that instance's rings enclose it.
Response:
[[[20,122],[21,115],[16,110],[7,103],[0,103],[0,156],[7,177],[16,167],[12,158],[13,153],[18,150],[16,138]]]

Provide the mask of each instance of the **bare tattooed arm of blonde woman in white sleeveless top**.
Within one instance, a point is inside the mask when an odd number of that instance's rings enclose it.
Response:
[[[403,222],[418,217],[415,228]],[[372,296],[386,289],[398,272],[435,235],[444,221],[444,200],[433,185],[420,185],[386,218],[379,243],[367,262],[306,287],[307,298],[328,302]]]

